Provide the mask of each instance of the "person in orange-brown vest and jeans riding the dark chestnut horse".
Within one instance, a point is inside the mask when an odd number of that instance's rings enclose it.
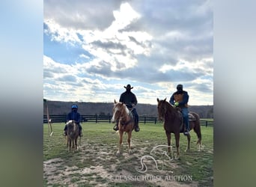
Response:
[[[169,102],[171,105],[175,105],[181,109],[183,121],[186,125],[184,135],[189,135],[189,94],[186,91],[183,91],[183,85],[177,85],[177,91],[171,95]]]

